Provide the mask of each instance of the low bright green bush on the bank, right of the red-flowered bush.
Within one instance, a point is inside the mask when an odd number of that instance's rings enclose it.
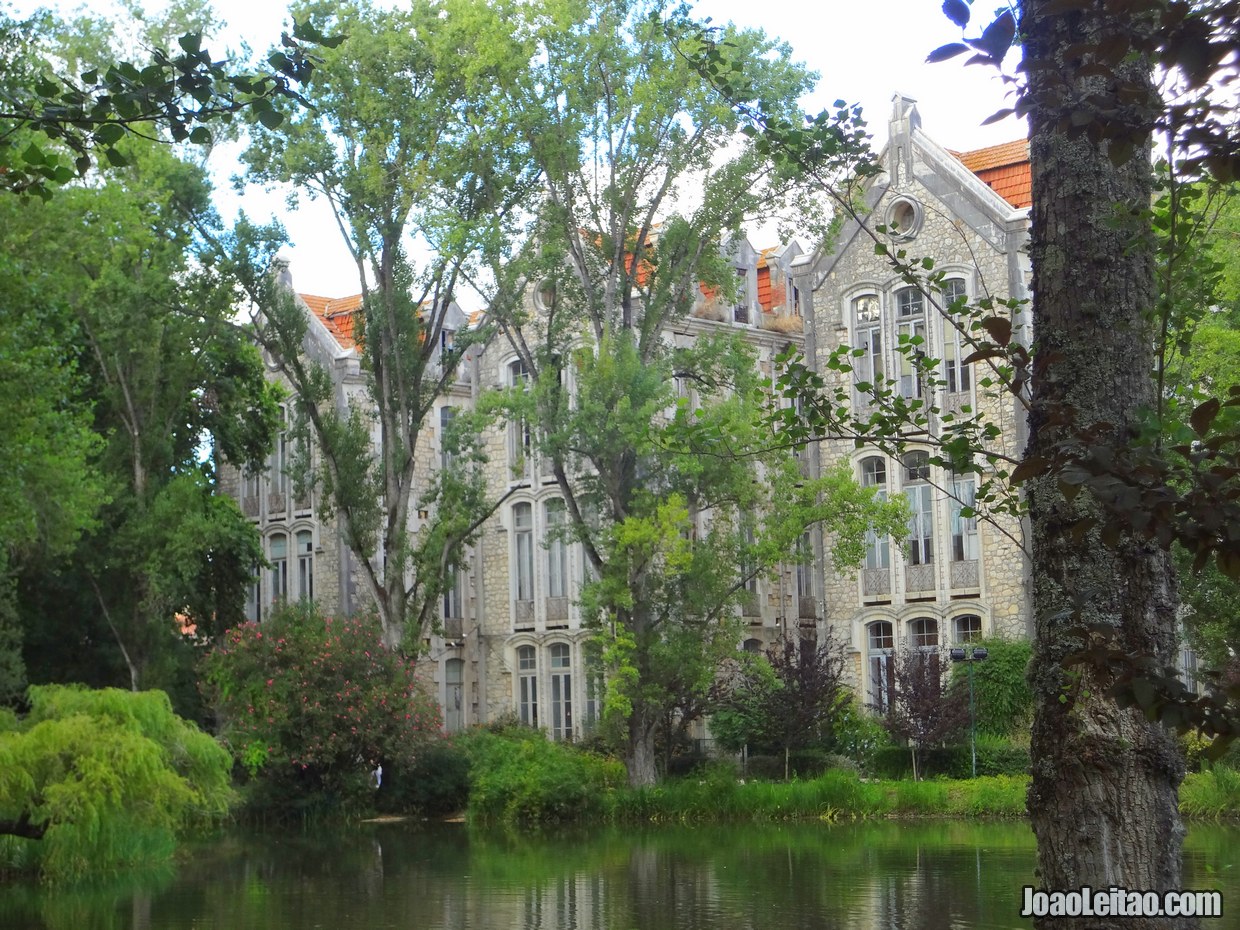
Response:
[[[599,818],[624,782],[624,766],[542,730],[470,730],[458,738],[470,758],[470,816],[502,823]]]

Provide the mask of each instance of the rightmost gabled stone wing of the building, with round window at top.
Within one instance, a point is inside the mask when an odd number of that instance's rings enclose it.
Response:
[[[999,427],[994,451],[1012,459],[1022,454],[1021,405],[1011,393],[987,386],[983,363],[965,361],[971,348],[934,303],[946,308],[960,296],[1029,296],[1030,190],[1027,143],[949,151],[923,131],[916,103],[904,95],[894,99],[879,161],[883,170],[866,190],[866,226],[885,226],[887,232],[872,237],[849,221],[835,248],[799,274],[808,352],[828,387],[844,388],[853,413],[868,415],[875,399],[867,386],[875,383],[931,410],[923,432],[906,434],[903,455],[857,448],[851,440],[825,440],[818,449],[823,465],[847,461],[862,484],[888,496],[905,495],[913,511],[903,544],[872,537],[861,572],[825,577],[826,619],[849,642],[867,703],[883,708],[890,699],[893,656],[901,649],[1030,631],[1023,527],[963,516],[973,503],[976,476],[931,466],[931,444],[918,441],[940,432],[944,414],[977,412]],[[890,253],[903,249],[910,259],[932,259],[944,275],[941,291],[930,290],[934,303],[875,252],[877,243]],[[1027,308],[1012,325],[1013,340],[1028,345]],[[841,346],[859,350],[851,373],[825,365]],[[936,377],[919,374],[909,361],[913,351],[939,360]]]

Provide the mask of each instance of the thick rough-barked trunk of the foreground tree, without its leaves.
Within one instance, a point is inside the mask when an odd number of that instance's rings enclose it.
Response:
[[[1161,102],[1148,61],[1130,61],[1106,78],[1081,77],[1085,62],[1070,57],[1081,55],[1080,43],[1140,36],[1148,25],[1127,12],[1107,16],[1100,2],[1071,12],[1055,6],[1054,0],[1025,0],[1022,21],[1032,103],[1038,340],[1030,456],[1068,436],[1064,414],[1081,427],[1112,424],[1123,441],[1138,408],[1154,401],[1148,139]],[[1120,105],[1116,98],[1107,103],[1116,79],[1138,92]],[[1089,114],[1101,131],[1070,138],[1073,114],[1078,125]],[[1137,145],[1131,156],[1112,160],[1117,128],[1130,130]],[[1096,503],[1087,494],[1065,498],[1055,476],[1030,482],[1029,508],[1037,613],[1029,816],[1039,883],[1048,890],[1176,888],[1183,763],[1174,740],[1141,713],[1120,709],[1107,696],[1112,682],[1105,672],[1063,665],[1086,644],[1089,630],[1110,631],[1126,651],[1169,663],[1176,596],[1167,556],[1131,539],[1109,548],[1096,531],[1074,534],[1074,525],[1095,515]],[[1162,930],[1192,921],[1055,918],[1035,924]]]

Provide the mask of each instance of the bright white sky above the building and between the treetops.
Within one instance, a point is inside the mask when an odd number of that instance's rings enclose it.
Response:
[[[161,0],[144,4],[149,10],[164,5]],[[10,6],[15,16],[21,16],[38,6],[73,10],[81,4],[17,0]],[[212,51],[237,47],[239,42],[264,50],[279,41],[286,25],[284,2],[216,0],[213,6],[226,27],[208,46]],[[100,7],[100,2],[92,4],[92,11]],[[1011,105],[993,72],[965,67],[959,58],[940,64],[925,62],[931,50],[960,40],[960,30],[942,15],[940,0],[698,0],[693,12],[698,19],[711,17],[714,25],[730,21],[787,42],[794,60],[820,74],[816,92],[802,100],[805,109],[817,113],[837,99],[861,103],[875,146],[885,140],[895,93],[918,100],[923,129],[949,149],[977,149],[1025,135],[1024,125],[1011,118],[982,125],[991,113]],[[291,239],[286,248],[290,272],[299,291],[324,296],[357,293],[356,268],[324,205],[303,198],[296,211],[289,211],[284,192],[252,186],[236,193],[227,184],[239,170],[236,151],[231,156],[227,150],[217,153],[213,160],[221,188],[217,205],[226,219],[244,207],[255,221],[275,217],[284,223]]]

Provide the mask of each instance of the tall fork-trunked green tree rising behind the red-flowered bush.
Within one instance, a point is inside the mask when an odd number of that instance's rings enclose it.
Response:
[[[305,2],[295,12],[348,37],[324,52],[315,109],[288,105],[279,134],[259,133],[246,159],[252,179],[295,185],[332,208],[362,294],[353,334],[374,445],[358,405],[335,402],[330,374],[305,352],[304,311],[262,260],[248,272],[255,331],[293,389],[296,432],[317,455],[310,480],[339,515],[384,640],[415,651],[449,567],[494,507],[467,448],[430,487],[419,465],[428,417],[486,336],[455,319],[458,289],[476,278],[479,255],[502,260],[516,236],[525,146],[505,135],[492,103],[497,87],[523,79],[528,50],[503,7],[474,0],[404,11]],[[458,432],[465,446],[470,435]],[[418,510],[429,517],[414,521]]]

